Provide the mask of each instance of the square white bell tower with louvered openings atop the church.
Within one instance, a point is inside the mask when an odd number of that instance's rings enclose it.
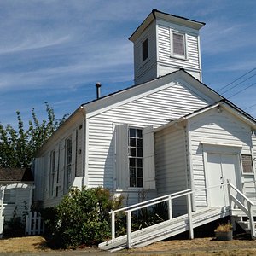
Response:
[[[204,25],[153,9],[129,38],[133,43],[135,84],[180,68],[201,81],[199,30]]]

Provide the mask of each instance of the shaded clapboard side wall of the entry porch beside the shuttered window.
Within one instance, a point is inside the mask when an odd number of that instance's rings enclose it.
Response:
[[[158,195],[188,189],[184,128],[168,128],[155,133],[155,170]],[[186,209],[184,198],[173,201],[173,214]]]

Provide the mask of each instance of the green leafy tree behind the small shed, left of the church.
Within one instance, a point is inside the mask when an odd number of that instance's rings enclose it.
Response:
[[[36,151],[53,134],[53,132],[65,121],[67,114],[62,119],[55,119],[54,109],[45,102],[47,119],[39,121],[34,108],[32,108],[32,120],[28,128],[24,127],[20,112],[17,111],[18,128],[12,125],[0,124],[0,167],[31,166]]]

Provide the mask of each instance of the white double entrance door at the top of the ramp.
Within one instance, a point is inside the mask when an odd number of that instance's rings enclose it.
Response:
[[[211,207],[224,207],[229,205],[227,187],[222,185],[230,181],[236,186],[239,184],[239,160],[237,154],[207,153],[207,179],[209,189],[209,203]],[[240,189],[240,188],[238,188]]]

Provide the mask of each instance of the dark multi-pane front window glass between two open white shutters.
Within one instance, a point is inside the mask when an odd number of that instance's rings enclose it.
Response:
[[[129,128],[130,187],[143,187],[143,130]]]

